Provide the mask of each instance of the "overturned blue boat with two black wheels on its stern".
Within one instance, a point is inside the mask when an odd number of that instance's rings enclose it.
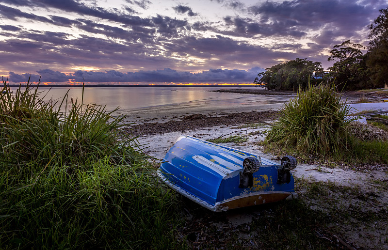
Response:
[[[158,174],[178,193],[212,211],[296,198],[290,172],[296,159],[276,164],[258,155],[181,136],[163,159]]]

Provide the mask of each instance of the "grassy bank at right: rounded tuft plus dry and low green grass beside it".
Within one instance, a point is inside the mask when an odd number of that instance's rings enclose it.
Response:
[[[357,117],[350,116],[349,107],[330,87],[299,91],[281,112],[263,143],[269,151],[306,159],[388,164],[388,131],[384,126],[353,123]]]

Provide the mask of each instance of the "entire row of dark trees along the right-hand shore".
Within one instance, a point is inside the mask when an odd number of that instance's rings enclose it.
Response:
[[[382,88],[388,83],[388,7],[380,10],[368,28],[371,39],[368,47],[350,40],[335,45],[327,59],[334,64],[327,71],[320,62],[296,58],[266,68],[254,83],[269,90],[305,89],[308,82],[314,85],[322,81],[346,90]]]

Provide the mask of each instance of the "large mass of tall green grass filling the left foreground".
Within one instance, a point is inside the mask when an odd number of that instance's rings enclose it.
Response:
[[[135,139],[117,140],[123,116],[3,84],[0,249],[176,247],[175,196]]]

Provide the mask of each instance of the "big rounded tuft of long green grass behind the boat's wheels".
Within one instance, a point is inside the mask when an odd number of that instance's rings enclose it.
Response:
[[[346,119],[349,107],[340,102],[333,88],[318,85],[299,90],[281,110],[282,115],[271,127],[265,144],[275,143],[313,156],[340,155],[347,147]]]

